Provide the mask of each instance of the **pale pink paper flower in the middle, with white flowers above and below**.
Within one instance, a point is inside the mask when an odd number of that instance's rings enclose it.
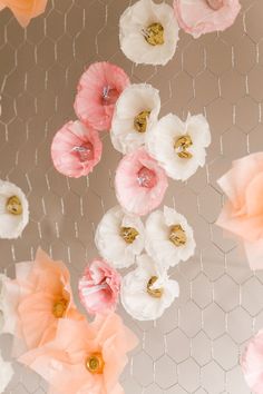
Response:
[[[115,178],[116,196],[127,211],[147,215],[163,200],[168,181],[165,171],[144,148],[125,156]]]

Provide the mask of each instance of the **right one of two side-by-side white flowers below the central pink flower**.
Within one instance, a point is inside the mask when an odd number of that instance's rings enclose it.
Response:
[[[146,221],[145,248],[163,268],[186,262],[195,252],[193,229],[183,215],[164,207],[155,210]]]

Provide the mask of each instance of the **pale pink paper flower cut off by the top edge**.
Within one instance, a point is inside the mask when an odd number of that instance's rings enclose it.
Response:
[[[179,27],[194,38],[231,27],[240,10],[238,0],[174,0]]]

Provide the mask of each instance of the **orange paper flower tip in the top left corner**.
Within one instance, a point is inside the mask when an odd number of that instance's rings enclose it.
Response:
[[[32,18],[45,12],[48,0],[0,0],[0,11],[9,8],[21,27],[26,28]]]

